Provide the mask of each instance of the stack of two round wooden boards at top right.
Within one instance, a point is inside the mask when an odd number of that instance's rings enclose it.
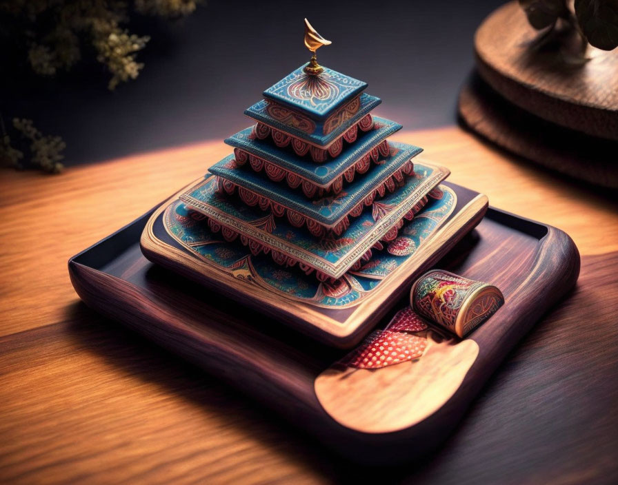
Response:
[[[510,152],[578,180],[618,187],[618,49],[561,32],[544,45],[516,1],[475,35],[477,72],[459,95],[463,123]]]

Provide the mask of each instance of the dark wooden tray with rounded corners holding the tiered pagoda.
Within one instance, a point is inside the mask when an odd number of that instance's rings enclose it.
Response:
[[[155,210],[70,259],[79,296],[364,463],[435,449],[499,362],[579,275],[579,253],[564,232],[490,207],[437,267],[492,282],[505,305],[464,340],[429,331],[431,353],[352,372],[336,364],[347,351],[146,260],[139,236]],[[406,305],[403,296],[395,309]]]

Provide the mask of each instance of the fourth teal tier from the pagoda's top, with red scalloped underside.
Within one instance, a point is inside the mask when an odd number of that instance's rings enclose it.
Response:
[[[230,182],[228,193],[238,190],[243,202],[249,205],[270,207],[271,203],[275,203],[286,211],[294,211],[327,229],[333,229],[350,212],[360,214],[364,206],[395,191],[403,179],[412,174],[414,165],[410,160],[419,148],[397,142],[388,143],[388,148],[388,155],[379,156],[377,163],[364,176],[353,180],[345,190],[317,200],[308,200],[299,190],[273,182],[248,167],[239,167],[233,155],[210,167],[209,172]],[[426,167],[428,176],[431,172],[432,169]],[[223,187],[227,188],[224,183]],[[293,217],[297,218],[297,214]]]

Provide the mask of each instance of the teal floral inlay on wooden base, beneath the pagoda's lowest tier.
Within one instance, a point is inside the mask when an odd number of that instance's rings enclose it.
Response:
[[[344,274],[336,285],[320,282],[298,267],[281,267],[270,256],[252,254],[238,241],[228,242],[214,233],[202,214],[180,200],[172,203],[160,216],[162,227],[155,225],[157,237],[171,238],[170,243],[195,256],[204,265],[250,280],[268,291],[306,303],[312,307],[343,309],[369,298],[389,276],[413,260],[420,247],[437,232],[457,205],[457,196],[443,185],[435,191],[425,208],[414,219],[406,221],[399,236],[357,271]]]

